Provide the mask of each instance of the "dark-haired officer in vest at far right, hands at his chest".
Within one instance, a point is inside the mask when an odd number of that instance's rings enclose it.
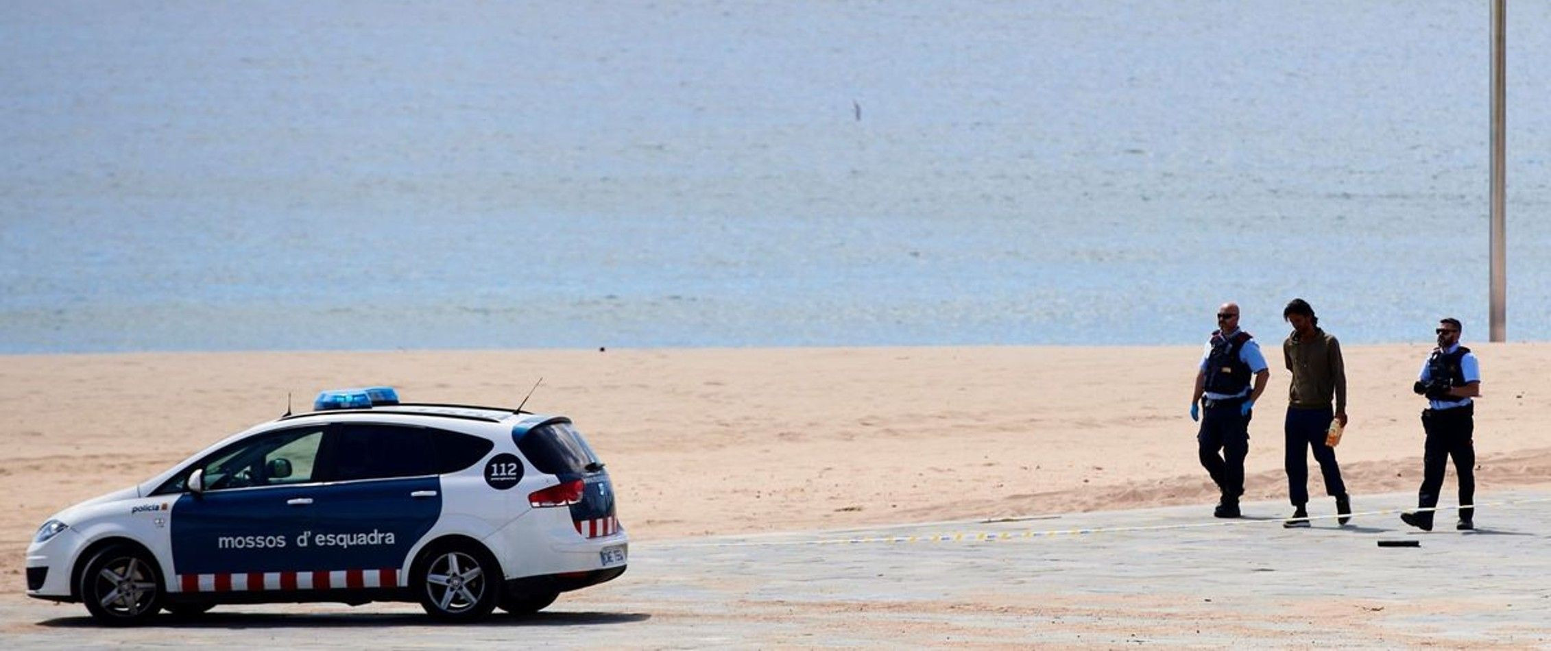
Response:
[[[1449,457],[1455,460],[1459,477],[1459,522],[1455,529],[1475,529],[1475,400],[1481,395],[1481,364],[1470,349],[1459,346],[1459,319],[1438,321],[1438,347],[1422,364],[1422,374],[1413,391],[1427,397],[1422,411],[1422,431],[1427,443],[1422,453],[1422,490],[1418,507],[1422,510],[1401,513],[1401,521],[1430,532],[1432,508],[1438,505],[1438,493],[1444,485],[1444,468]]]

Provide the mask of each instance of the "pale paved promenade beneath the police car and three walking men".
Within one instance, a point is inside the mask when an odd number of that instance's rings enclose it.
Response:
[[[1551,646],[1551,493],[1481,494],[1432,533],[1357,496],[1346,527],[1283,504],[641,542],[614,583],[535,617],[433,626],[414,604],[226,606],[96,628],[79,604],[0,600],[19,646],[1171,645]],[[1320,501],[1312,515],[1332,515]],[[628,522],[627,522],[628,524]],[[1075,532],[1086,533],[1075,533]],[[1416,541],[1419,547],[1379,547]],[[17,577],[19,583],[20,577]]]

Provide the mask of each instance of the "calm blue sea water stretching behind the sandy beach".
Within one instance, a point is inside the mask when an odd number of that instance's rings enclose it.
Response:
[[[1508,332],[1551,338],[1551,3]],[[1489,2],[0,6],[0,352],[1486,338]]]

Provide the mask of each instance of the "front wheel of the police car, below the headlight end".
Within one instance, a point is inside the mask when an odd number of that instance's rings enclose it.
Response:
[[[129,544],[109,546],[92,556],[78,587],[92,617],[109,626],[149,622],[161,609],[164,594],[155,560]]]

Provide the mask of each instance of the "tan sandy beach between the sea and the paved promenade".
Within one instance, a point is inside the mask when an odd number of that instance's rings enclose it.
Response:
[[[1469,343],[1467,343],[1469,344]],[[1551,344],[1472,344],[1478,490],[1551,484]],[[0,572],[34,527],[318,389],[571,415],[608,462],[634,539],[1214,502],[1187,415],[1197,347],[673,349],[37,355],[0,360]],[[1339,457],[1365,493],[1421,479],[1418,346],[1346,350]],[[1287,374],[1250,425],[1245,499],[1284,499]],[[1318,473],[1311,510],[1331,512]],[[1450,471],[1452,474],[1452,471]],[[1453,480],[1446,484],[1452,504]],[[1481,516],[1491,518],[1489,515]],[[16,578],[20,581],[20,577]],[[19,591],[11,592],[20,595]]]

